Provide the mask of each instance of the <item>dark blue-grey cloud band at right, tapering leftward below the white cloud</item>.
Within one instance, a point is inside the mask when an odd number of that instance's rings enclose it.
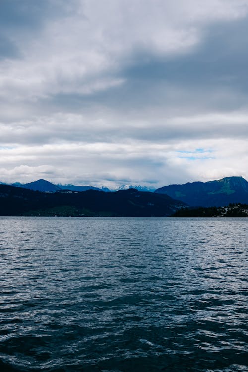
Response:
[[[242,41],[241,41],[241,35]],[[135,51],[128,65],[104,72],[124,82],[91,93],[56,93],[42,98],[42,110],[85,112],[103,106],[120,112],[166,108],[176,115],[246,109],[248,22],[236,20],[206,29],[202,42],[184,55]]]

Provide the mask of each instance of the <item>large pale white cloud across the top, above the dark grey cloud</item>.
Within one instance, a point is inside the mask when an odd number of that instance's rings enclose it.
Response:
[[[11,0],[10,0],[11,1]],[[135,50],[186,53],[204,24],[244,17],[248,1],[77,1],[75,12],[50,18],[34,37],[15,33],[21,58],[0,64],[0,89],[15,99],[35,100],[58,92],[106,89],[121,82],[112,74]],[[101,82],[102,81],[102,82]],[[104,82],[105,81],[105,82]]]

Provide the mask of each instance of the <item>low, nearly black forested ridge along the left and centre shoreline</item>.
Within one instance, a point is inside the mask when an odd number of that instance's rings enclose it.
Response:
[[[185,204],[135,189],[104,192],[39,192],[0,185],[0,216],[170,216]]]

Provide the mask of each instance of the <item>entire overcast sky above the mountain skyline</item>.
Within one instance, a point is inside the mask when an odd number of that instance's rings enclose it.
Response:
[[[0,181],[248,180],[248,0],[0,0]]]

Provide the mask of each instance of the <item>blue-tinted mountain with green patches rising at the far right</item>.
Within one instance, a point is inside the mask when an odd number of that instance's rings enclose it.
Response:
[[[155,190],[190,206],[221,207],[229,203],[248,204],[248,182],[243,177],[225,177],[208,182],[168,185]]]

